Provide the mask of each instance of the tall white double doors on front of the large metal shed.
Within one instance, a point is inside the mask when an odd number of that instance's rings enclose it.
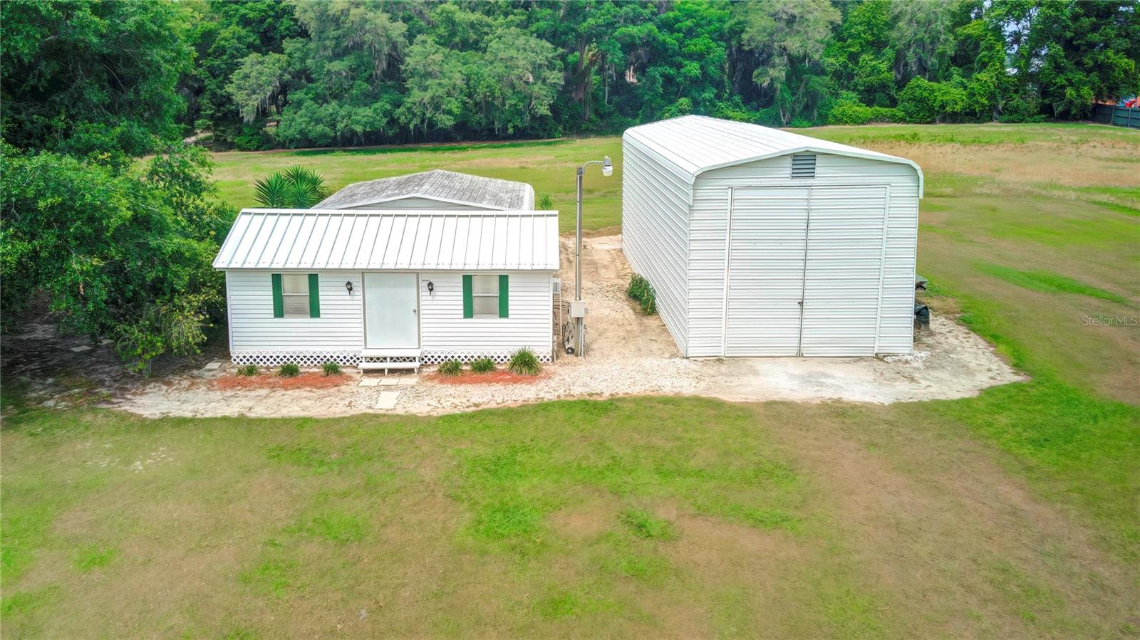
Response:
[[[887,188],[734,188],[725,355],[873,355]]]

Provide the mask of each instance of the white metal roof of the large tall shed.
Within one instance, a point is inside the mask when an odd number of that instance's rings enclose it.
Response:
[[[671,164],[690,183],[714,169],[814,151],[910,165],[919,174],[922,195],[922,170],[913,161],[758,124],[686,115],[627,129],[622,138]]]

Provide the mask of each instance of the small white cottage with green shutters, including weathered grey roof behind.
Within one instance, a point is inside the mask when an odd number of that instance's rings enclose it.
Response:
[[[557,212],[532,205],[529,184],[426,172],[243,210],[214,260],[234,362],[549,361]]]

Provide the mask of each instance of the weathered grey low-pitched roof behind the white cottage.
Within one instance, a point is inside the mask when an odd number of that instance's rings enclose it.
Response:
[[[321,200],[316,208],[350,208],[420,197],[481,208],[518,211],[534,206],[534,188],[526,182],[437,169],[353,182]]]

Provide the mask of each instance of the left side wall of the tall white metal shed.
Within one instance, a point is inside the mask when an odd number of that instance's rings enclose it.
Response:
[[[622,140],[621,246],[629,265],[657,292],[658,313],[681,352],[689,334],[689,206],[685,178]],[[695,228],[693,232],[700,232]]]

